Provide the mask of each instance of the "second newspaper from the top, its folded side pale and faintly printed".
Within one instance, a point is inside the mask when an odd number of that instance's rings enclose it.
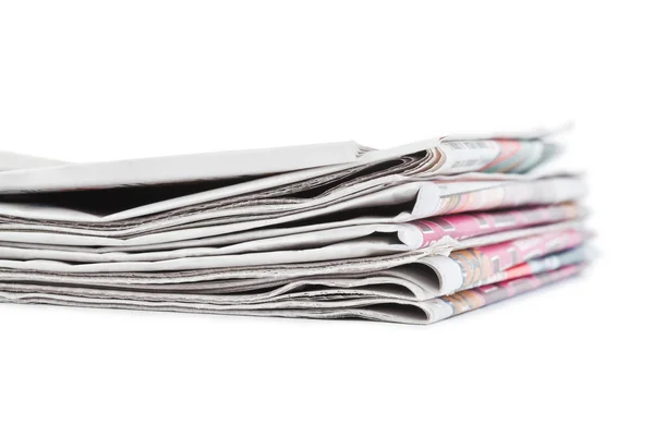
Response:
[[[121,246],[207,238],[310,220],[327,223],[327,228],[342,227],[343,221],[349,225],[407,222],[437,215],[569,202],[581,198],[585,190],[583,181],[573,177],[411,182],[350,199],[320,201],[305,207],[293,205],[277,213],[262,213],[261,207],[215,206],[193,214],[154,215],[120,228],[65,227],[59,221],[25,217],[51,215],[56,211],[52,208],[14,203],[0,205],[0,241]]]

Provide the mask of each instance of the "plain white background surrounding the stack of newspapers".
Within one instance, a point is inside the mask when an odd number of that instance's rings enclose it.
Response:
[[[654,32],[646,2],[600,3],[0,2],[2,149],[387,147],[574,119],[603,253],[428,327],[2,305],[0,434],[652,434]]]

